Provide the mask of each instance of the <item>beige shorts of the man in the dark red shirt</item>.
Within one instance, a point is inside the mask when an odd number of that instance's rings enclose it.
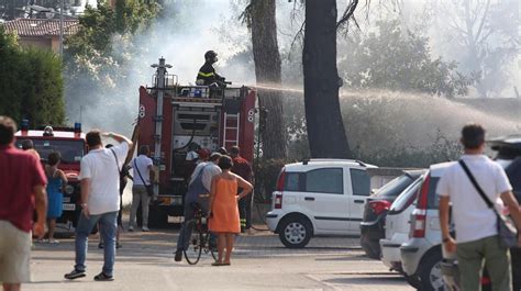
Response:
[[[31,233],[20,231],[8,221],[0,221],[0,282],[31,281]]]

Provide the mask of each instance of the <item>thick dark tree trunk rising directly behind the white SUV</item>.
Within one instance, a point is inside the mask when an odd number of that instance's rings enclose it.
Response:
[[[339,102],[335,0],[306,1],[302,65],[311,157],[350,158]]]

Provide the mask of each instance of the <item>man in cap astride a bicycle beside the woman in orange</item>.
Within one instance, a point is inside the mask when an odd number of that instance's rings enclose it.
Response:
[[[221,154],[213,153],[210,156],[209,161],[199,164],[196,170],[193,170],[190,183],[188,184],[188,191],[185,195],[185,222],[181,225],[179,237],[177,238],[176,261],[181,260],[182,250],[188,248],[192,227],[187,227],[187,222],[193,220],[192,203],[198,203],[204,212],[208,212],[208,200],[212,178],[213,176],[221,174],[221,168],[218,166]]]

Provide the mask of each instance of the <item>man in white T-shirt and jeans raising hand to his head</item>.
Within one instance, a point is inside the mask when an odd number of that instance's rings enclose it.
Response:
[[[65,278],[73,280],[86,276],[86,253],[88,237],[97,223],[103,237],[103,269],[95,277],[96,281],[112,281],[115,257],[115,233],[118,211],[120,210],[120,171],[132,147],[132,141],[123,135],[103,134],[120,144],[104,148],[101,133],[90,131],[86,135],[89,153],[81,158],[81,214],[76,227],[76,265]]]

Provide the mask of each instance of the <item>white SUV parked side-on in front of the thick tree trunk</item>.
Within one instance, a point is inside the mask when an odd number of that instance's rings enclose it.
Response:
[[[304,247],[313,235],[359,235],[370,194],[367,168],[350,159],[311,159],[286,165],[266,214],[269,230],[289,248]]]

